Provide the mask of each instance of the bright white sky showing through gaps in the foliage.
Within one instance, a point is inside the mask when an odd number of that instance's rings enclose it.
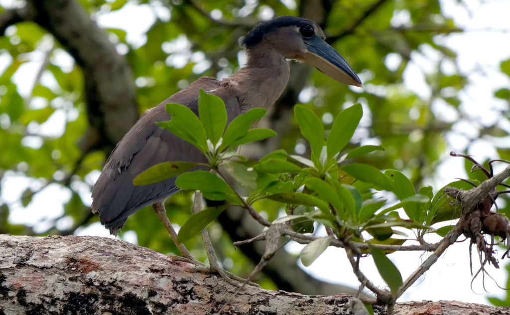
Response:
[[[509,1],[492,1],[480,2],[474,0],[465,0],[465,6],[459,5],[455,0],[441,0],[443,11],[447,16],[451,16],[457,26],[464,28],[467,32],[462,34],[451,34],[448,36],[437,36],[439,43],[445,44],[458,54],[458,66],[463,74],[469,74],[472,82],[461,94],[461,100],[464,112],[469,112],[469,120],[464,120],[454,124],[453,131],[449,132],[447,137],[448,150],[460,152],[467,146],[467,140],[461,136],[462,133],[472,133],[471,124],[489,124],[495,121],[498,126],[504,130],[510,131],[510,123],[507,117],[498,117],[494,114],[494,110],[505,108],[506,106],[501,100],[493,98],[495,90],[503,86],[510,86],[508,78],[499,72],[499,63],[502,60],[510,58],[510,23],[508,23],[508,12],[510,12]],[[288,6],[293,5],[292,0],[284,3]],[[0,0],[0,5],[9,7],[12,5],[11,0]],[[295,4],[294,4],[295,5]],[[144,33],[154,21],[155,14],[162,19],[168,20],[170,12],[164,7],[156,9],[148,5],[126,5],[122,10],[112,13],[98,13],[96,19],[102,27],[120,28],[127,32],[127,40],[134,46],[143,45],[146,41]],[[215,12],[216,15],[221,12]],[[264,16],[271,16],[270,11],[263,11]],[[396,12],[392,23],[398,26],[405,24],[409,20],[409,14],[406,12]],[[505,30],[500,32],[498,30]],[[50,45],[51,38],[45,39]],[[44,48],[44,47],[43,47]],[[120,53],[125,52],[122,45],[118,46]],[[175,67],[184,66],[189,60],[196,62],[197,65],[193,70],[201,72],[208,68],[208,64],[204,61],[200,54],[189,54],[186,50],[189,43],[185,37],[177,38],[171,45],[162,47],[164,51],[175,52],[167,64]],[[32,86],[26,82],[33,82],[33,78],[40,65],[40,56],[42,52],[33,53],[32,61],[24,64],[16,72],[13,81],[18,85],[18,91],[23,96],[28,96]],[[242,56],[242,55],[241,55]],[[385,63],[391,68],[392,65],[399,62],[398,55],[390,55]],[[407,88],[413,90],[423,98],[428,98],[430,89],[424,80],[424,73],[433,70],[439,62],[440,56],[427,45],[422,45],[419,52],[414,52],[412,62],[407,66],[404,72],[404,84]],[[63,67],[70,67],[73,64],[72,59],[64,52],[57,53],[56,62]],[[204,61],[204,62],[201,62]],[[0,73],[10,61],[8,57],[0,55]],[[453,69],[454,65],[443,65],[445,71]],[[226,75],[226,74],[225,74]],[[52,81],[53,80],[53,81]],[[25,82],[24,84],[22,82]],[[44,85],[55,87],[56,82],[50,76],[43,76],[41,79]],[[137,85],[146,84],[146,82],[137,81]],[[156,83],[157,84],[157,83]],[[72,104],[71,104],[72,105]],[[441,101],[432,105],[432,110],[441,113],[447,121],[455,121],[458,117],[454,115],[448,108],[441,104]],[[70,113],[69,113],[70,112]],[[37,126],[38,132],[44,134],[58,135],[63,132],[63,118],[65,114],[72,115],[72,111],[67,113],[59,112],[52,116],[48,122]],[[0,117],[1,118],[1,117]],[[0,124],[2,123],[0,119]],[[476,137],[477,132],[471,134]],[[27,139],[28,145],[37,147],[37,139]],[[35,141],[35,142],[34,142]],[[510,147],[510,139],[503,139]],[[474,155],[477,160],[484,160],[487,157],[497,156],[496,151],[490,145],[488,139],[481,139],[472,144],[470,154]],[[451,182],[455,177],[462,176],[464,169],[462,164],[458,163],[458,158],[450,158],[443,156],[443,161],[438,169],[437,175],[430,184],[433,187],[442,187],[444,184]],[[97,178],[97,174],[91,174],[86,181],[93,184]],[[24,177],[11,172],[6,174],[2,181],[2,194],[0,198],[10,204],[12,223],[34,224],[38,223],[37,230],[43,231],[48,228],[52,222],[51,218],[58,217],[63,213],[62,204],[70,198],[70,192],[58,185],[49,185],[44,191],[38,193],[33,198],[30,205],[22,208],[19,200],[22,191],[31,186],[37,189],[41,186],[38,182],[28,182]],[[90,201],[90,190],[87,185],[74,187],[80,191],[80,195],[84,200]],[[47,209],[41,212],[40,209]],[[66,221],[67,220],[67,221]],[[57,222],[61,226],[68,226],[71,222],[64,218]],[[92,225],[86,229],[78,231],[79,235],[100,235],[109,236],[106,229],[99,224]],[[135,233],[126,233],[125,240],[136,243]],[[429,239],[434,242],[438,239]],[[469,273],[469,256],[468,242],[454,245],[432,266],[430,271],[422,277],[417,284],[411,287],[399,301],[406,300],[458,300],[471,303],[487,304],[486,294],[481,286],[481,276],[479,276],[474,284],[473,290],[470,288],[471,276]],[[287,250],[299,253],[301,245],[290,244]],[[422,253],[394,253],[390,255],[393,262],[396,263],[403,278],[405,279],[417,266],[426,259],[427,254]],[[476,259],[476,256],[474,256]],[[502,261],[502,266],[508,261]],[[474,261],[474,268],[477,264]],[[379,286],[385,286],[384,281],[380,279],[377,271],[373,267],[372,259],[362,259],[362,270],[367,274],[369,279],[373,280]],[[490,275],[498,280],[500,285],[504,285],[507,275],[502,270],[495,270],[492,266],[488,266]],[[304,268],[313,276],[353,287],[358,287],[358,280],[352,274],[350,264],[348,263],[345,253],[340,249],[328,249],[322,254],[309,268]],[[476,271],[476,270],[475,270]],[[491,279],[486,280],[486,288],[490,293],[489,296],[503,297],[502,289],[497,288]]]

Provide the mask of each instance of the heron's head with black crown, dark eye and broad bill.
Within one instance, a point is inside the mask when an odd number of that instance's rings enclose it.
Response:
[[[324,39],[324,32],[314,21],[280,16],[254,27],[243,44],[247,50],[256,47],[277,50],[285,58],[304,61],[338,82],[361,87],[356,72]]]

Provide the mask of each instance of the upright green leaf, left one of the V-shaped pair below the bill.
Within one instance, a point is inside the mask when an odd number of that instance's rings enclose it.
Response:
[[[312,153],[319,157],[320,151],[325,145],[324,127],[319,117],[313,111],[301,105],[294,106],[294,116],[301,129],[301,134],[310,143]]]

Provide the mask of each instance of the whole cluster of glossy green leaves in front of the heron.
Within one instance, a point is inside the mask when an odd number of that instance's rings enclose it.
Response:
[[[423,239],[429,232],[444,235],[445,228],[435,230],[431,225],[457,219],[461,214],[441,190],[433,196],[432,187],[427,186],[417,193],[401,172],[392,169],[381,172],[368,164],[350,163],[353,157],[384,150],[380,146],[345,150],[363,114],[360,104],[343,110],[327,136],[314,112],[295,106],[301,134],[310,144],[310,158],[277,150],[259,161],[246,160],[234,149],[275,135],[268,129],[249,129],[265,114],[264,109],[253,108],[227,126],[224,104],[217,96],[200,91],[198,105],[199,117],[185,106],[167,104],[171,120],[159,126],[193,144],[208,163],[164,162],[141,173],[134,183],[148,184],[179,176],[175,181],[179,188],[200,191],[207,199],[247,210],[263,210],[256,209],[257,202],[262,200],[280,203],[285,216],[267,222],[256,214],[256,219],[266,226],[287,225],[300,234],[313,233],[319,226],[331,233],[303,248],[300,256],[304,265],[310,265],[333,239],[368,244],[368,251],[360,255],[372,254],[381,276],[396,296],[402,278],[385,252],[377,247]],[[190,172],[194,167],[206,167],[209,172]],[[233,180],[227,181],[227,177]],[[388,197],[377,197],[380,195]],[[197,235],[225,208],[226,205],[205,208],[194,214],[180,229],[178,239],[184,242]]]

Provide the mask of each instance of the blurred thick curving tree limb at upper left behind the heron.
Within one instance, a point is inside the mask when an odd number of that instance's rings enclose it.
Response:
[[[77,0],[27,0],[22,9],[0,15],[0,34],[21,21],[34,21],[52,34],[83,69],[90,127],[82,150],[112,150],[138,119],[130,65]]]

